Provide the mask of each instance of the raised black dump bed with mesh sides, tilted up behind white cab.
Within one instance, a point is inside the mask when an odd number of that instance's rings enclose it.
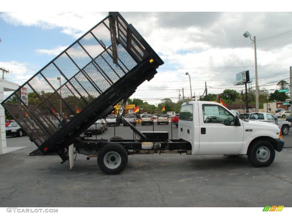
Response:
[[[55,57],[1,104],[46,154],[67,147],[164,62],[117,12]]]

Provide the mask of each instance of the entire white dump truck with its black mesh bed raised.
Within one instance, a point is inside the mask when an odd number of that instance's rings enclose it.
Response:
[[[124,117],[139,139],[80,136],[122,101],[119,121],[128,98],[163,64],[121,14],[110,12],[1,104],[38,147],[30,154],[57,153],[61,163],[69,160],[71,167],[74,148],[87,159],[97,157],[107,174],[123,171],[132,154],[240,154],[258,167],[274,161],[275,151],[284,147],[278,126],[241,121],[215,102],[184,103],[176,140],[170,140],[166,131],[141,132]],[[58,77],[60,84],[55,80]],[[22,89],[33,101],[22,98]]]

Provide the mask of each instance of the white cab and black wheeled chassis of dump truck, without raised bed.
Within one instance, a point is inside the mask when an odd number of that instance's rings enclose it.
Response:
[[[284,147],[276,124],[242,121],[216,102],[183,103],[176,140],[169,139],[165,131],[140,132],[122,119],[140,139],[79,139],[74,143],[77,152],[88,155],[88,159],[98,157],[98,166],[107,174],[123,171],[131,154],[239,154],[247,155],[254,166],[265,167],[274,161],[275,151]]]

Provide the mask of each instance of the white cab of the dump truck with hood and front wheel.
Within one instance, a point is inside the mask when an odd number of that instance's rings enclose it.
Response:
[[[178,136],[192,144],[192,154],[250,154],[256,166],[271,162],[274,150],[284,147],[277,125],[242,121],[219,103],[208,101],[181,106]]]

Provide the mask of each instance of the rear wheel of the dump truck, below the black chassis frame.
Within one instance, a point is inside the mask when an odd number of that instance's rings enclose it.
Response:
[[[115,161],[116,163],[114,163]],[[128,153],[123,146],[117,143],[105,145],[98,153],[97,164],[106,174],[121,173],[121,171],[125,169],[127,163]]]

